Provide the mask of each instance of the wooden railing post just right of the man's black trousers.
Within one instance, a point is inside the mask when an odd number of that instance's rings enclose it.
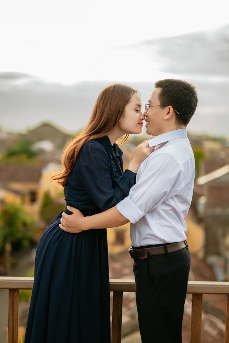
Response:
[[[203,294],[192,295],[191,343],[201,341],[202,301]]]

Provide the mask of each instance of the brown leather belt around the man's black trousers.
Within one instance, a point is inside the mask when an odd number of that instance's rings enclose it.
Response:
[[[148,256],[153,255],[165,255],[170,252],[175,252],[187,248],[188,245],[185,241],[172,243],[172,244],[164,244],[159,247],[150,247],[150,248],[129,248],[129,253],[131,258],[133,259],[145,259]]]

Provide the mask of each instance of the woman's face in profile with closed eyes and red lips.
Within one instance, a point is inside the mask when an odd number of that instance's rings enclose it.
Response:
[[[137,93],[134,93],[117,123],[121,131],[124,133],[141,133],[143,127],[142,120],[145,119],[141,112],[141,107],[141,98]]]

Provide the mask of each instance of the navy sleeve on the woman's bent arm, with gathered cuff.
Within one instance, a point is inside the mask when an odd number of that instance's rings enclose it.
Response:
[[[110,158],[100,143],[88,142],[83,145],[77,162],[84,189],[102,211],[128,196],[135,184],[136,174],[128,169],[122,176],[112,180]]]

